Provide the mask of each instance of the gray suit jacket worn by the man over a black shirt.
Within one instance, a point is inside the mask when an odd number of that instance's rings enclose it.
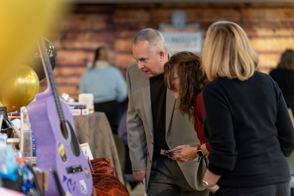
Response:
[[[171,54],[169,54],[171,57]],[[149,78],[134,63],[126,72],[128,84],[128,146],[132,170],[146,170],[147,186],[151,172],[153,155],[153,119],[151,110],[151,95]],[[183,144],[199,142],[193,124],[187,115],[176,110],[178,100],[171,90],[166,93],[166,143],[169,149]],[[165,149],[168,150],[168,149]],[[202,178],[206,170],[204,161],[178,163],[186,180],[195,190],[204,190]]]

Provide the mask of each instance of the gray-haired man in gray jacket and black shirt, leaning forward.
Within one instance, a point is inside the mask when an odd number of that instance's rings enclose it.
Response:
[[[155,29],[140,31],[133,44],[137,63],[127,69],[128,146],[133,176],[147,180],[147,193],[153,195],[208,195],[202,186],[205,163],[180,164],[160,150],[199,142],[188,116],[176,109],[178,100],[164,86],[163,66],[172,54]]]

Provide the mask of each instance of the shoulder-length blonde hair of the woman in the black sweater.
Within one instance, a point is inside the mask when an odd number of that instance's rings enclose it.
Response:
[[[207,31],[203,48],[203,69],[210,81],[218,77],[250,78],[258,56],[244,30],[233,22],[214,22]]]

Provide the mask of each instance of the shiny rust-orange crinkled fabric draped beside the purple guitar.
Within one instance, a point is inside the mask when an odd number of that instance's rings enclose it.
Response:
[[[114,170],[110,166],[110,159],[94,159],[91,160],[91,164],[95,172],[92,172],[93,187],[95,189],[93,189],[92,196],[130,196],[126,186],[113,175]]]

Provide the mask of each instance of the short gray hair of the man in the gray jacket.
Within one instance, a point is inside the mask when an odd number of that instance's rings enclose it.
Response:
[[[137,45],[140,41],[148,41],[150,44],[150,51],[156,54],[159,50],[163,50],[167,54],[167,48],[162,34],[155,29],[143,29],[134,38],[134,44]]]

